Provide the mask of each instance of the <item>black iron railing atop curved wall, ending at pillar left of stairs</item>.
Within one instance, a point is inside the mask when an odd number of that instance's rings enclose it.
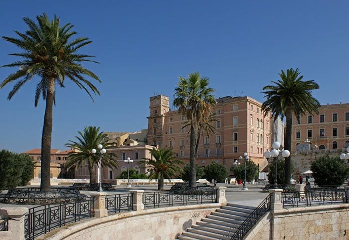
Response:
[[[145,192],[143,204],[145,208],[157,208],[175,205],[193,205],[216,202],[217,192],[213,188],[206,188],[205,191],[188,190],[181,192],[159,191]]]

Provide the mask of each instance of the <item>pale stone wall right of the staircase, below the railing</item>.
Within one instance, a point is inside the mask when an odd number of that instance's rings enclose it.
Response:
[[[349,239],[349,204],[276,209],[245,240]]]

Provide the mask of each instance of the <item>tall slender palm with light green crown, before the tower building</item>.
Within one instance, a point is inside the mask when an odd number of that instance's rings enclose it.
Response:
[[[173,105],[178,107],[178,112],[186,116],[190,124],[190,181],[189,187],[196,187],[195,149],[196,132],[199,123],[209,116],[211,108],[216,104],[213,97],[214,89],[208,87],[209,79],[200,77],[198,72],[190,73],[189,77],[179,77],[178,86],[175,88]]]

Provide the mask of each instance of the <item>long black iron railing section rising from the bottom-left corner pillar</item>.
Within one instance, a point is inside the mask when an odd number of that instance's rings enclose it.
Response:
[[[25,239],[35,239],[68,223],[94,217],[94,214],[94,197],[30,208],[24,219]]]

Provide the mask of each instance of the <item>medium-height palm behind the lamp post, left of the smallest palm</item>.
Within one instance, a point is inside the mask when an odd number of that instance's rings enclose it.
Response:
[[[66,147],[74,149],[74,152],[70,152],[66,162],[66,168],[71,167],[81,167],[85,164],[88,166],[90,173],[90,183],[96,182],[94,165],[98,164],[99,156],[93,154],[91,150],[97,148],[98,144],[102,144],[105,149],[112,147],[109,143],[107,134],[99,132],[99,127],[88,126],[84,128],[84,132],[78,132],[79,136],[75,136],[77,141],[69,140],[70,143],[65,144]],[[101,163],[102,167],[118,167],[118,162],[116,161],[118,157],[115,153],[107,151],[102,155]]]

